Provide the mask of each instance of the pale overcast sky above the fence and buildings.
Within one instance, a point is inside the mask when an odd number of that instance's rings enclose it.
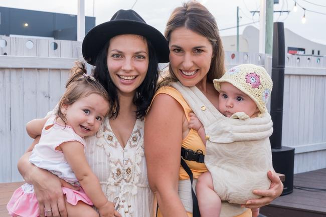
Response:
[[[236,35],[237,6],[240,8],[240,25],[259,21],[259,14],[254,16],[250,11],[260,10],[261,0],[200,0],[215,16],[222,36]],[[284,22],[284,27],[311,41],[326,44],[326,1],[325,0],[295,0],[298,5],[306,9],[306,23],[302,24],[303,10],[297,7],[293,11],[294,0],[279,0],[274,4],[274,11],[291,11],[274,13],[274,21]],[[135,10],[146,22],[160,32],[164,32],[165,25],[173,9],[187,1],[180,0],[85,0],[85,15],[96,17],[96,25],[109,21],[119,9]],[[19,8],[27,10],[55,12],[77,15],[77,0],[1,0],[0,7]],[[95,6],[93,8],[93,5]],[[319,5],[319,6],[318,6]],[[308,12],[316,11],[322,14]],[[259,23],[251,24],[259,29]],[[245,27],[240,27],[240,34]]]

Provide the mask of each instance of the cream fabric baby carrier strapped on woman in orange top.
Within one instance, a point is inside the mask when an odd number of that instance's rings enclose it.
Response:
[[[273,170],[270,115],[266,112],[252,119],[227,118],[196,86],[185,87],[180,82],[172,86],[180,91],[204,126],[208,138],[205,164],[212,174],[214,190],[221,200],[230,202],[222,203],[220,216],[241,214],[244,209],[239,204],[259,197],[252,193],[253,189],[268,189],[270,186],[267,177],[267,171]]]

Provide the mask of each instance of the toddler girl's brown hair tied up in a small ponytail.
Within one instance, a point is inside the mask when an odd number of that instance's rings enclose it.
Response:
[[[64,104],[72,105],[80,98],[87,97],[93,93],[102,96],[107,102],[109,102],[109,96],[103,86],[97,82],[92,76],[87,75],[85,64],[77,61],[76,66],[71,69],[71,76],[66,84],[66,91],[61,97],[58,104],[57,117],[60,117],[65,124],[67,119],[61,112],[61,108]]]

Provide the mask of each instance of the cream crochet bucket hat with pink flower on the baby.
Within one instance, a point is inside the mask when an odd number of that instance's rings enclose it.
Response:
[[[221,91],[221,83],[228,82],[247,94],[263,114],[272,92],[273,82],[266,70],[253,64],[242,64],[229,69],[220,79],[214,79],[214,87]]]

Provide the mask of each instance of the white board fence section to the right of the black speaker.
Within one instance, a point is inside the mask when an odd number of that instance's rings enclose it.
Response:
[[[325,57],[286,57],[282,145],[295,148],[294,173],[326,167],[325,64]]]

